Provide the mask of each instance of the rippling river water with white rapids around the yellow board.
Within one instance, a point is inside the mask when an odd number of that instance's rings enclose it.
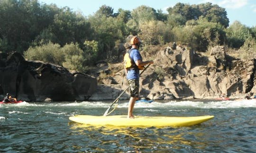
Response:
[[[215,118],[192,127],[92,127],[74,114],[103,115],[110,101],[0,105],[1,153],[256,152],[255,101],[138,102],[134,115]],[[126,115],[120,102],[111,115]]]

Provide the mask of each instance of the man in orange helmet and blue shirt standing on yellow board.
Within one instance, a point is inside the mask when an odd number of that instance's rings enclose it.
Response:
[[[143,61],[138,51],[141,40],[134,36],[130,40],[131,49],[124,56],[126,79],[128,80],[130,90],[130,100],[128,104],[128,118],[134,118],[133,108],[136,100],[139,98],[139,70],[147,64],[153,64],[153,60]]]

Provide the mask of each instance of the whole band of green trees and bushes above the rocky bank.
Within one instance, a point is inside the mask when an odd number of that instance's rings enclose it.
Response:
[[[0,51],[81,72],[102,59],[118,62],[131,34],[142,39],[141,50],[179,42],[201,52],[225,45],[240,51],[240,59],[256,57],[256,26],[230,24],[225,8],[211,3],[177,3],[167,13],[145,5],[113,12],[103,5],[86,17],[38,0],[0,0],[0,14]]]

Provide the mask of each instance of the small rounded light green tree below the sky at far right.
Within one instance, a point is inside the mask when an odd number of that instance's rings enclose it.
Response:
[[[227,31],[228,45],[230,47],[241,47],[247,38],[251,37],[250,29],[242,25],[239,21],[235,21],[229,26]]]

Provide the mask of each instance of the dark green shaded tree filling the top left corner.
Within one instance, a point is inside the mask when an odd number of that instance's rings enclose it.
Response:
[[[0,39],[7,42],[0,50],[23,52],[27,49],[46,25],[44,10],[37,0],[0,0]]]

